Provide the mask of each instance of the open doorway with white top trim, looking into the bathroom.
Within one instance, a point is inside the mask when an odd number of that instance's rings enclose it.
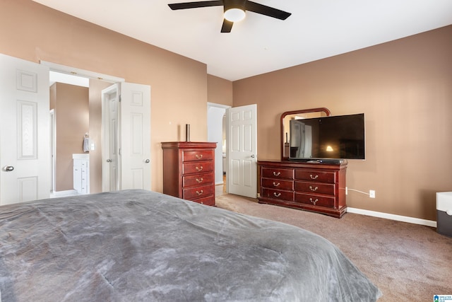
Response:
[[[51,197],[102,192],[101,91],[124,79],[42,64],[50,66],[53,109]],[[57,105],[58,102],[61,103]],[[81,163],[81,167],[76,167],[76,163]]]

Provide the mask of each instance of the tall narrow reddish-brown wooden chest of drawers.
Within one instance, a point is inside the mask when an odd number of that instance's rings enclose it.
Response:
[[[163,193],[215,206],[215,148],[217,143],[162,143]]]

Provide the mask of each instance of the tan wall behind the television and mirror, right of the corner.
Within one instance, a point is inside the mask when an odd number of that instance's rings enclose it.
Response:
[[[234,81],[234,106],[256,103],[258,158],[279,159],[289,110],[364,112],[366,161],[348,163],[349,207],[436,220],[452,190],[452,26]]]

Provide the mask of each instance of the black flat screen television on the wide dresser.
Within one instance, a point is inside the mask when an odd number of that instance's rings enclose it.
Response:
[[[290,160],[365,159],[364,113],[290,120]]]

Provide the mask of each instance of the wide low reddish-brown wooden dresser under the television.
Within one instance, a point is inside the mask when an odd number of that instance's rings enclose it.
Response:
[[[258,161],[259,203],[304,209],[340,218],[347,211],[347,163]]]

